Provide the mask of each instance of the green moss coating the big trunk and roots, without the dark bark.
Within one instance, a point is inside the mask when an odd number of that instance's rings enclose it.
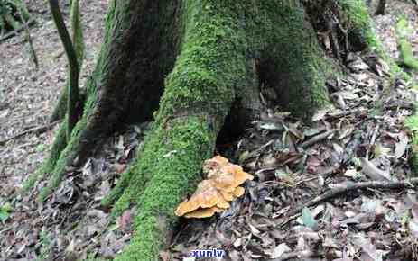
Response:
[[[107,36],[88,85],[88,103],[70,144],[54,167],[51,192],[79,147],[80,133],[96,105],[96,81],[102,84],[114,62],[108,48],[123,37],[131,1],[112,2]],[[153,130],[138,151],[135,164],[122,175],[104,203],[114,215],[137,205],[135,234],[116,260],[157,260],[176,218],[174,208],[200,180],[201,162],[213,155],[215,141],[231,104],[253,88],[248,75],[277,87],[283,105],[296,114],[312,113],[328,102],[325,79],[332,69],[323,57],[299,1],[184,0],[171,28],[179,53],[165,79]],[[113,7],[112,7],[113,6]],[[352,18],[353,19],[353,18]],[[355,19],[354,19],[355,20]],[[119,24],[120,25],[120,24]],[[126,25],[127,26],[127,25]],[[263,67],[265,66],[265,67]],[[262,77],[262,76],[260,76]],[[252,84],[252,85],[251,85]]]

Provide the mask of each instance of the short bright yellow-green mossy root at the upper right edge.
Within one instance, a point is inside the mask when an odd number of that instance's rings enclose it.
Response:
[[[408,27],[408,22],[404,18],[400,19],[396,23],[395,31],[404,65],[418,72],[418,58],[413,57],[413,47],[408,41],[408,33],[411,31]]]

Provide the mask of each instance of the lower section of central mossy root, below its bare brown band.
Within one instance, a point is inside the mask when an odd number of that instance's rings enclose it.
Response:
[[[175,119],[169,125],[168,129],[160,126],[148,137],[141,166],[136,170],[139,176],[118,202],[126,206],[125,196],[134,196],[139,208],[135,236],[116,260],[158,259],[174,224],[175,206],[199,181],[201,162],[213,153],[218,123],[208,114]],[[144,179],[149,181],[144,183]],[[145,187],[136,187],[144,184]]]

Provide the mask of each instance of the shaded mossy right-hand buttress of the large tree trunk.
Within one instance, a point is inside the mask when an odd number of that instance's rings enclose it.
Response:
[[[249,29],[264,34],[261,43],[258,36],[253,40],[262,51],[262,81],[274,87],[283,109],[310,119],[315,109],[329,102],[325,80],[336,70],[320,49],[302,4],[260,1],[259,5],[253,11],[256,22],[250,24],[256,28]]]

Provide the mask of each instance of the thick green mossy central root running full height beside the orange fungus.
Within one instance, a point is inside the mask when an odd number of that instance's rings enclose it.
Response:
[[[116,260],[158,259],[175,206],[200,179],[201,163],[213,154],[234,89],[245,85],[246,38],[231,10],[237,2],[185,3],[181,55],[166,79],[135,174],[116,202],[116,208],[138,204],[134,237]]]

